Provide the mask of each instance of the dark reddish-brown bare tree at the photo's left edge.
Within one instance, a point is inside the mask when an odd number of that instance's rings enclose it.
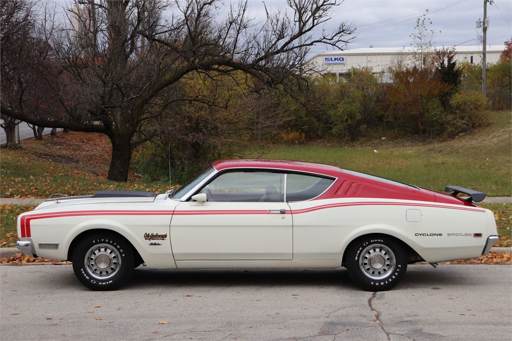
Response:
[[[14,129],[23,117],[45,117],[58,121],[62,106],[50,88],[60,81],[59,69],[48,41],[38,36],[35,25],[38,16],[35,4],[27,1],[4,1],[2,9],[2,127],[7,146],[19,147],[14,142]],[[15,113],[14,117],[9,113]],[[38,125],[38,123],[36,122]],[[34,136],[42,138],[44,125],[30,125]]]

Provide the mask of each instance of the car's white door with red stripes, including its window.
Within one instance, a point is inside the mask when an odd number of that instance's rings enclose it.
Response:
[[[291,260],[292,215],[285,176],[275,172],[220,174],[199,192],[208,200],[181,202],[171,220],[174,259]]]

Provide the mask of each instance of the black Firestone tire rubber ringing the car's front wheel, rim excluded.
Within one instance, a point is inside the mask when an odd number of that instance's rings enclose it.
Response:
[[[107,280],[95,279],[84,264],[87,252],[91,247],[99,244],[108,244],[115,248],[121,258],[117,273]],[[134,252],[130,243],[125,238],[113,233],[97,233],[82,238],[73,252],[72,262],[73,271],[78,281],[91,290],[101,291],[115,290],[124,285],[130,278],[135,264]]]

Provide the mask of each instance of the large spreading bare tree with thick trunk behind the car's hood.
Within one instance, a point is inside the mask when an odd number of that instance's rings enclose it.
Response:
[[[312,46],[342,48],[350,41],[350,24],[322,30],[341,3],[288,0],[286,12],[262,25],[248,17],[247,2],[220,20],[218,0],[77,1],[69,12],[72,29],[45,26],[60,66],[54,69],[58,87],[47,84],[65,116],[27,117],[4,105],[1,110],[32,124],[108,135],[108,178],[126,181],[133,148],[156,134],[139,134],[141,128],[173,103],[203,100],[180,91],[183,77],[242,72],[267,87],[285,83],[306,71],[304,56]]]

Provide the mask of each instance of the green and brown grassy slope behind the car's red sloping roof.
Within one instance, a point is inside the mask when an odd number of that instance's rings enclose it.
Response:
[[[490,126],[449,141],[378,138],[348,147],[279,145],[262,157],[327,163],[438,191],[456,185],[490,197],[510,197],[511,115],[491,115]]]

